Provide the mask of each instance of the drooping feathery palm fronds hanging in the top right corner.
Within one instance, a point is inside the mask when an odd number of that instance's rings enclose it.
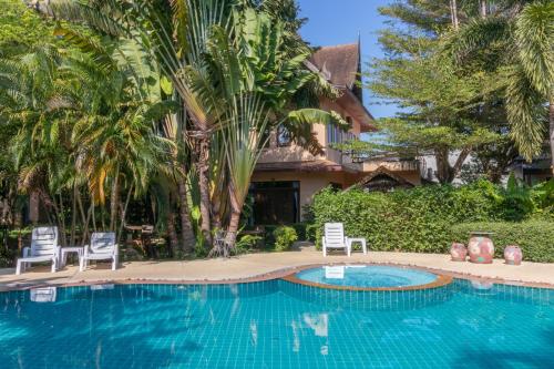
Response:
[[[449,41],[459,61],[476,51],[496,50],[506,70],[506,112],[511,135],[527,160],[541,152],[550,112],[550,145],[554,171],[554,3],[532,1],[473,19]]]

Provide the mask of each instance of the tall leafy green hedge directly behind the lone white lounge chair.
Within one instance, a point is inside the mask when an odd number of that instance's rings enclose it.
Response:
[[[488,192],[455,194],[450,186],[387,194],[326,189],[314,201],[316,245],[321,246],[325,223],[342,222],[349,237],[366,237],[371,249],[444,253],[452,224],[488,221],[494,204]]]

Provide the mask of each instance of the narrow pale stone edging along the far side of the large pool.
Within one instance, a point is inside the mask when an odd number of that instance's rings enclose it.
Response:
[[[554,289],[554,284],[548,284],[548,283],[529,283],[529,281],[521,281],[521,280],[492,278],[492,277],[472,275],[469,273],[456,273],[456,271],[443,270],[443,269],[438,269],[438,268],[428,268],[428,267],[422,267],[422,266],[411,265],[411,264],[371,263],[371,262],[368,262],[368,263],[362,263],[362,262],[346,263],[346,262],[341,262],[341,263],[316,263],[316,264],[307,264],[307,265],[295,266],[295,267],[285,267],[281,269],[260,274],[257,276],[252,276],[252,277],[247,277],[247,278],[238,278],[238,279],[220,279],[220,280],[214,280],[214,279],[185,280],[185,279],[167,279],[167,278],[161,278],[161,279],[127,278],[127,279],[96,279],[96,280],[83,279],[83,280],[78,280],[78,281],[69,281],[69,283],[60,283],[60,284],[41,283],[41,284],[21,284],[21,285],[16,285],[16,286],[0,286],[0,293],[11,291],[11,290],[27,290],[27,289],[31,289],[31,288],[41,288],[41,287],[74,287],[74,286],[91,286],[91,285],[104,285],[104,284],[114,284],[114,285],[135,285],[135,284],[232,285],[232,284],[244,284],[244,283],[256,283],[256,281],[264,281],[264,280],[278,279],[278,278],[286,279],[287,276],[295,275],[296,273],[298,273],[300,270],[308,269],[308,268],[316,268],[316,267],[320,267],[320,266],[325,266],[325,265],[356,265],[356,264],[413,268],[413,269],[430,271],[430,273],[433,273],[437,275],[442,275],[444,277],[450,277],[450,278],[474,280],[474,281],[488,281],[488,283],[509,285],[509,286],[515,286],[515,287],[532,287],[532,288]],[[328,285],[325,285],[325,286],[327,288]],[[416,286],[416,287],[419,287],[419,286]],[[420,289],[420,288],[416,288],[416,289]]]

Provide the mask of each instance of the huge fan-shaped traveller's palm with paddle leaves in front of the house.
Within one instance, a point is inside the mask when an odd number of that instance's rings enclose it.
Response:
[[[277,2],[271,3],[275,13]],[[225,204],[232,204],[225,198],[225,191],[211,196],[214,194],[211,171],[217,170],[218,173],[212,175],[228,175],[232,170],[226,158],[229,151],[214,147],[230,142],[228,136],[216,141],[214,137],[230,134],[228,127],[236,127],[232,122],[236,122],[237,116],[245,116],[242,109],[246,105],[237,104],[237,101],[244,101],[245,95],[258,95],[260,104],[256,106],[260,112],[252,116],[270,115],[271,127],[283,122],[298,142],[316,148],[310,124],[345,123],[338,114],[315,106],[295,110],[309,106],[307,101],[314,102],[316,94],[301,94],[302,89],[318,89],[318,92],[328,94],[336,92],[317,72],[305,65],[309,49],[305,44],[293,48],[295,43],[287,41],[298,41],[298,37],[263,8],[252,8],[248,1],[229,0],[174,0],[171,8],[161,3],[136,1],[130,4],[114,0],[90,6],[63,2],[57,12],[70,19],[84,19],[96,30],[132,40],[157,60],[161,74],[171,81],[186,113],[186,137],[198,174],[201,228],[208,243],[212,236],[211,211],[226,212]],[[111,13],[117,17],[106,16]],[[311,100],[306,96],[311,96]],[[261,122],[250,124],[257,130]],[[257,158],[259,150],[254,148]],[[212,152],[224,155],[212,157]],[[255,162],[250,161],[250,165]],[[247,187],[247,177],[242,187]],[[239,194],[246,193],[244,188],[237,188],[236,181],[229,185]],[[233,224],[237,224],[235,219],[244,203],[239,197],[242,195],[235,198],[236,206],[230,212],[234,214]],[[226,224],[230,219],[228,214],[218,217]],[[229,234],[234,242],[235,226],[230,227]]]

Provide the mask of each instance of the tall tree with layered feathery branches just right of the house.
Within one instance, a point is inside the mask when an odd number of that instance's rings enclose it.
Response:
[[[382,10],[410,25],[421,25],[381,32],[387,57],[370,64],[367,86],[375,95],[397,103],[403,112],[396,119],[381,120],[380,126],[389,134],[391,144],[380,145],[372,154],[390,151],[411,157],[433,155],[438,180],[450,183],[471,153],[497,139],[483,116],[483,101],[496,93],[497,85],[494,74],[481,69],[461,73],[441,55],[440,35],[428,23],[435,20],[449,29],[443,21],[448,4],[422,3],[394,4]],[[413,14],[430,20],[412,21]]]

